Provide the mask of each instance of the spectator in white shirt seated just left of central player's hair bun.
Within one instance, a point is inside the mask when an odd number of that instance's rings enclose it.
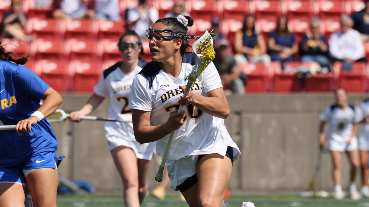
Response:
[[[128,28],[134,30],[141,38],[146,38],[146,29],[158,19],[158,10],[151,7],[147,0],[139,0],[137,7],[127,11]]]

